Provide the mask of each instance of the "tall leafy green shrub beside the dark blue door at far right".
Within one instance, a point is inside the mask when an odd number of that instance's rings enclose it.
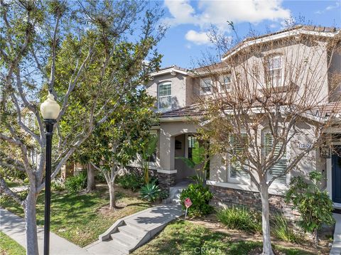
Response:
[[[286,192],[286,202],[293,203],[293,209],[301,213],[302,220],[299,225],[314,234],[315,244],[318,242],[318,229],[323,224],[332,225],[335,219],[332,217],[332,200],[328,192],[319,188],[322,174],[317,171],[309,173],[309,180],[305,181],[301,176],[291,179],[290,188]]]

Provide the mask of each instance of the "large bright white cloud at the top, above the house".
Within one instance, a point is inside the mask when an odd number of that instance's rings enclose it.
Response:
[[[163,22],[169,26],[190,24],[200,28],[199,32],[191,30],[185,36],[196,44],[210,43],[205,31],[211,25],[226,33],[230,29],[227,21],[259,23],[264,20],[283,21],[291,16],[290,10],[281,6],[282,0],[199,0],[196,9],[188,0],[165,0],[164,3],[171,17]]]

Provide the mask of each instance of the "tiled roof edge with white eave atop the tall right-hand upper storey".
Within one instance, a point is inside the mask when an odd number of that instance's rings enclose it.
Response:
[[[242,42],[238,43],[231,50],[225,53],[222,57],[222,61],[227,60],[227,58],[232,57],[232,55],[239,52],[244,48],[247,48],[251,45],[257,43],[266,43],[271,40],[278,40],[281,38],[286,38],[289,36],[299,36],[299,35],[311,35],[311,36],[324,36],[324,37],[334,37],[340,33],[340,29],[335,27],[325,27],[325,26],[294,26],[292,28],[286,28],[281,31],[277,31],[275,33],[268,33],[266,35],[257,36],[257,37],[249,37]]]

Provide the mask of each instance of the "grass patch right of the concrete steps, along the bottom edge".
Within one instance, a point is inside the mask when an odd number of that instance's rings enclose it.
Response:
[[[249,254],[254,249],[260,249],[261,242],[232,241],[229,234],[213,232],[210,229],[177,220],[168,224],[163,232],[133,252],[135,255],[168,255],[168,254]],[[286,249],[282,246],[274,246],[276,251],[282,254],[298,255],[310,254],[300,249]]]

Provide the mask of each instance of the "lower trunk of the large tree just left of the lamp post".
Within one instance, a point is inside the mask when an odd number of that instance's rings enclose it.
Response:
[[[36,219],[37,196],[35,190],[30,188],[30,192],[25,202],[25,222],[26,222],[26,254],[38,255],[37,219]]]

